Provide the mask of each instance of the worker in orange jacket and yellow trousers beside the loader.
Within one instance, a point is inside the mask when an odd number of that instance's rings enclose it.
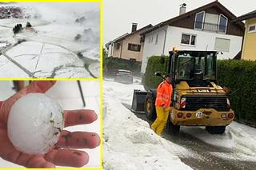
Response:
[[[158,85],[157,89],[157,97],[155,100],[157,119],[151,125],[151,129],[159,136],[161,136],[162,130],[166,127],[166,122],[169,116],[171,96],[173,93],[171,79],[172,76],[170,74],[166,74],[165,80]]]

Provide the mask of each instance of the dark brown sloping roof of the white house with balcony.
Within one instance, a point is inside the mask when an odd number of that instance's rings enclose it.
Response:
[[[189,12],[186,12],[185,14],[181,14],[181,15],[178,15],[177,17],[170,18],[169,20],[166,20],[165,22],[160,22],[156,26],[153,26],[152,28],[150,28],[150,30],[147,30],[146,32],[142,33],[141,35],[148,34],[151,31],[157,30],[158,28],[160,28],[162,26],[166,26],[166,25],[170,26],[170,24],[173,22],[177,22],[178,20],[181,20],[182,18],[186,18],[186,17],[190,16],[191,14],[196,14],[196,13],[198,13],[202,10],[206,10],[210,7],[218,7],[220,10],[222,10],[223,14],[225,14],[226,17],[231,18],[231,19],[236,18],[236,16],[233,13],[231,13],[230,10],[228,10],[225,6],[223,6],[220,2],[218,2],[216,0],[214,2],[210,2],[210,3],[206,4],[205,6],[200,6],[197,9],[190,10]],[[237,24],[238,24],[238,26],[241,26],[242,28],[244,27],[243,22],[238,22]]]

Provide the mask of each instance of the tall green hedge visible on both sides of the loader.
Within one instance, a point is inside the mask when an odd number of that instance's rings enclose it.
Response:
[[[168,57],[150,57],[143,79],[146,89],[156,89],[162,79],[154,73],[166,72],[168,62]],[[256,126],[256,61],[218,61],[217,81],[218,85],[230,89],[230,104],[236,121]]]

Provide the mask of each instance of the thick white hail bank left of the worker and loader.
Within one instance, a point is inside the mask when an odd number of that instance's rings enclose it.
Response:
[[[157,136],[146,121],[126,109],[142,85],[103,81],[104,169],[191,169],[175,156],[185,148]]]

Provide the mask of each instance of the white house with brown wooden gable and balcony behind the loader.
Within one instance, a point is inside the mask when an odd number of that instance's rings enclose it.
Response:
[[[180,14],[147,30],[142,55],[145,73],[149,57],[168,55],[173,47],[179,50],[215,50],[218,59],[233,58],[242,48],[243,22],[230,22],[236,18],[218,1],[186,12],[182,4]]]

